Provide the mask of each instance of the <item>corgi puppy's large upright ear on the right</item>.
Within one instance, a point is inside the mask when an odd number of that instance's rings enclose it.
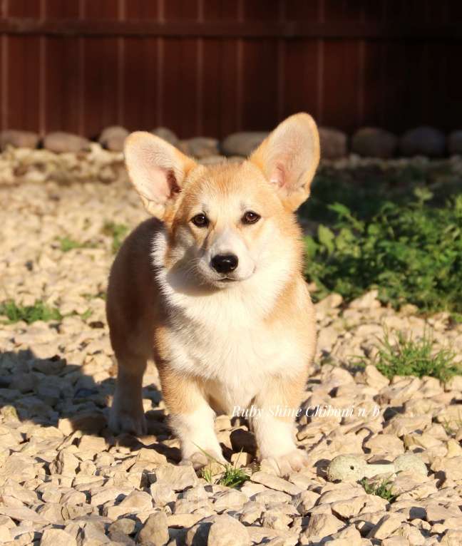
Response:
[[[291,115],[250,156],[274,184],[284,207],[297,210],[309,197],[319,163],[319,135],[311,115]]]

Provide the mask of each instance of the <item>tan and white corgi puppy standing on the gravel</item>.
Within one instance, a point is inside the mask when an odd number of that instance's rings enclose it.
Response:
[[[153,359],[185,463],[200,468],[205,453],[225,462],[215,413],[252,407],[260,459],[279,475],[299,470],[307,457],[293,412],[316,331],[294,211],[319,162],[314,120],[290,116],[241,164],[198,165],[143,132],[126,140],[125,162],[154,217],[125,239],[109,278],[111,428],[146,432],[142,380]]]

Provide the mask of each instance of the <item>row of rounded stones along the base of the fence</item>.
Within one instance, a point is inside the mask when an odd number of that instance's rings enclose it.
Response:
[[[267,132],[240,132],[228,135],[222,141],[217,138],[195,137],[180,140],[172,130],[159,127],[153,133],[168,140],[188,155],[200,160],[216,161],[224,157],[246,157]],[[121,152],[128,130],[120,126],[105,128],[98,143],[111,152]],[[341,130],[320,127],[322,158],[344,158],[354,153],[364,158],[389,159],[396,156],[442,158],[446,155],[462,155],[462,130],[446,135],[433,127],[421,126],[407,130],[398,136],[376,127],[359,128],[351,138]],[[43,139],[37,133],[21,130],[0,132],[0,150],[13,148],[43,148],[53,153],[85,153],[92,149],[90,140],[71,133],[48,133]]]

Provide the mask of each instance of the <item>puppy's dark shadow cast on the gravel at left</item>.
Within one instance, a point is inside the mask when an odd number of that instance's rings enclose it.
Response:
[[[180,450],[161,443],[172,434],[160,408],[146,413],[147,436],[113,436],[107,418],[115,383],[115,377],[96,382],[82,373],[81,366],[67,364],[58,355],[41,359],[30,349],[0,351],[0,416],[4,424],[14,428],[18,421],[54,426],[64,436],[102,436],[110,446],[123,445],[130,450],[148,447],[178,462]],[[162,396],[150,386],[143,398],[158,406]]]

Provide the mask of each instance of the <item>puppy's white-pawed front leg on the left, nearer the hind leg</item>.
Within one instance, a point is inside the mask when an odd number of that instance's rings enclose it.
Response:
[[[200,381],[167,366],[159,372],[170,426],[180,438],[182,463],[193,463],[197,469],[212,458],[225,464],[214,429],[215,412],[207,402]]]

